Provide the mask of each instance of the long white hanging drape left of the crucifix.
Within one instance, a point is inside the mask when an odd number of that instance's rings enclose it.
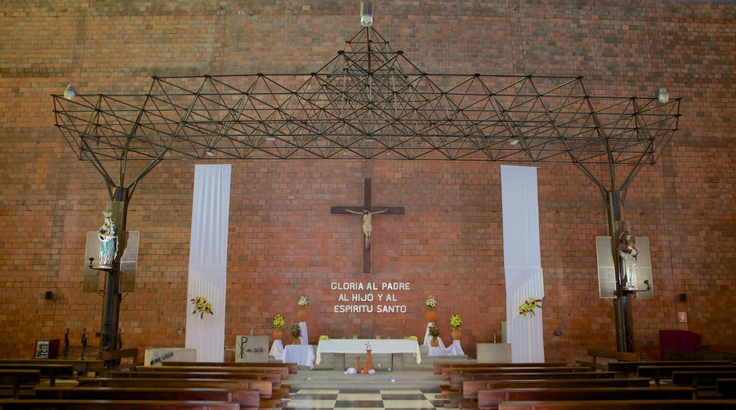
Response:
[[[224,360],[230,172],[230,165],[194,168],[185,345],[197,349],[199,362]],[[214,314],[192,314],[190,300],[197,296],[212,304]]]

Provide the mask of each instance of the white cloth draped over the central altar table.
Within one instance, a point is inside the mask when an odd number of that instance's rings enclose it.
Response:
[[[413,353],[417,364],[422,363],[419,342],[408,339],[329,339],[320,340],[317,345],[316,359],[322,362],[322,353],[366,353],[366,344],[370,345],[372,354],[380,353]]]

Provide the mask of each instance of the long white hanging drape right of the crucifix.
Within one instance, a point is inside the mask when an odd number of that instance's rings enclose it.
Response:
[[[513,362],[544,362],[542,309],[523,317],[526,298],[542,299],[537,168],[501,166],[503,265],[506,273],[506,339]],[[542,303],[542,306],[544,304]]]

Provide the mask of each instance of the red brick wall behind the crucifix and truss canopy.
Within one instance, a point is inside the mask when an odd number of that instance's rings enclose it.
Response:
[[[686,328],[736,350],[733,249],[734,4],[670,1],[378,1],[375,29],[430,73],[584,76],[592,95],[684,98],[679,132],[626,194],[634,235],[651,243],[655,297],[633,302],[637,352],[658,354],[662,328]],[[150,76],[303,73],[360,29],[358,2],[11,1],[0,6],[0,357],[30,356],[35,339],[97,342],[102,298],[81,292],[85,232],[102,223],[101,176],[54,128],[51,93],[145,92]],[[163,162],[132,195],[141,231],[137,290],[124,299],[124,344],[184,344],[195,162]],[[616,346],[611,301],[598,298],[595,237],[608,234],[598,188],[571,165],[539,167],[544,330],[548,360]],[[131,164],[129,177],[141,165]],[[361,204],[378,215],[372,273],[361,273]],[[296,320],[309,296],[310,336],[421,336],[424,299],[438,322],[461,313],[462,344],[489,342],[506,320],[499,164],[233,162],[226,343]],[[334,314],[330,281],[405,281],[406,314]],[[46,301],[43,293],[54,292]],[[687,302],[677,295],[687,294]],[[687,312],[688,323],[677,322]],[[554,331],[562,331],[555,336]],[[446,336],[446,337],[447,337]]]

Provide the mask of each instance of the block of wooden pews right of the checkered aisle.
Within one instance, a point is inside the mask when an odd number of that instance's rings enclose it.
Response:
[[[611,364],[613,364],[612,362]],[[736,409],[736,371],[730,362],[626,362],[626,368],[564,363],[438,362],[441,397],[460,409]],[[623,362],[622,362],[623,363]],[[636,364],[634,364],[636,363]],[[685,380],[693,367],[710,366],[712,393]]]

